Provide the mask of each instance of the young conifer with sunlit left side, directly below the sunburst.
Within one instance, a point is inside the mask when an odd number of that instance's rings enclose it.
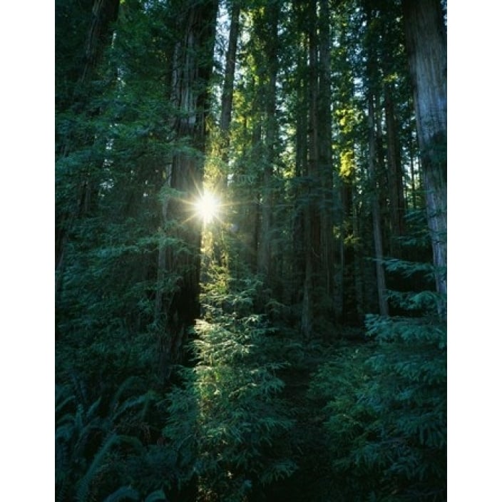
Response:
[[[253,288],[230,294],[217,284],[205,305],[210,321],[195,326],[198,362],[170,393],[164,433],[178,452],[182,483],[197,478],[197,500],[245,501],[295,469],[280,446],[292,427],[277,376],[285,364],[271,357],[273,337],[262,317],[239,314],[252,306]]]

